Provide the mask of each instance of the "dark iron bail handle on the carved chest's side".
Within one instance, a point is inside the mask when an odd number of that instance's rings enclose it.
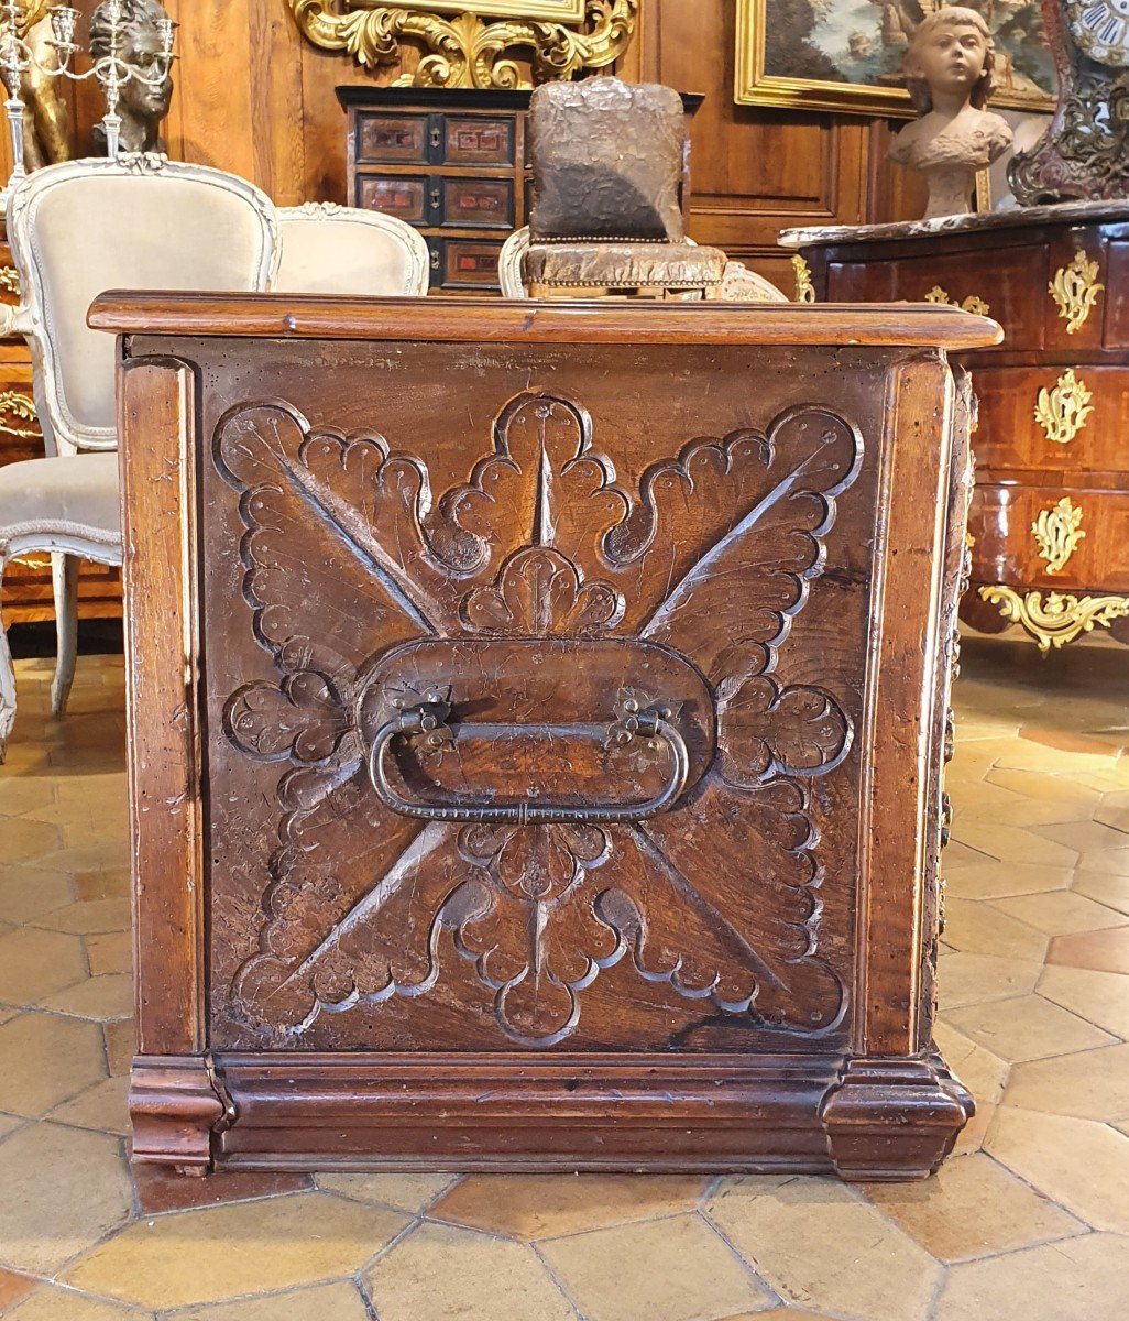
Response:
[[[368,753],[368,778],[376,790],[376,797],[393,812],[401,816],[417,816],[423,820],[441,822],[486,822],[514,823],[516,826],[537,826],[551,822],[603,823],[639,822],[666,811],[681,795],[689,774],[689,752],[681,733],[669,724],[671,708],[663,703],[651,703],[639,708],[635,699],[621,694],[615,705],[615,719],[610,725],[572,725],[574,733],[593,736],[603,734],[605,746],[621,746],[635,738],[662,740],[671,754],[671,770],[667,783],[642,803],[537,803],[520,802],[512,804],[485,803],[423,803],[403,798],[391,785],[386,768],[386,753],[397,736],[415,740],[417,746],[430,752],[442,752],[456,744],[456,732],[449,721],[452,716],[450,690],[432,688],[423,701],[403,709],[376,731]],[[496,738],[507,732],[520,729],[536,732],[536,725],[496,725],[462,724],[469,736]],[[560,734],[561,727],[544,725],[547,740]]]

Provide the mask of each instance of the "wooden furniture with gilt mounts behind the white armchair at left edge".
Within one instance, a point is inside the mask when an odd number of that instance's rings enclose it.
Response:
[[[0,221],[0,301],[20,301],[20,277],[12,264]],[[0,464],[36,458],[44,453],[44,435],[32,391],[32,357],[17,337],[0,339]],[[54,618],[51,560],[34,555],[4,569],[4,625],[38,624]],[[83,563],[78,580],[78,614],[82,620],[121,614],[121,576],[116,568]]]

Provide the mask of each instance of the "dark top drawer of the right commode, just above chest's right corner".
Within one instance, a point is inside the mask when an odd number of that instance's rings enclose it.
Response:
[[[831,303],[952,303],[998,321],[1006,332],[1001,347],[1041,349],[1050,305],[1046,267],[1042,243],[1002,250],[990,263],[975,252],[832,262],[827,296]]]

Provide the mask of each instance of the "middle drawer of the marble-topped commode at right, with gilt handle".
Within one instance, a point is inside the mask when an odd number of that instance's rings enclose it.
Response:
[[[973,383],[978,473],[1054,472],[1067,486],[1129,487],[1129,367],[984,367]]]

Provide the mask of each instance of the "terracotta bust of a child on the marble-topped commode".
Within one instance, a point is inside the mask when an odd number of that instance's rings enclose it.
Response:
[[[938,9],[918,25],[902,66],[920,119],[898,133],[890,159],[926,176],[927,221],[961,215],[976,172],[1011,143],[1008,122],[984,108],[994,91],[988,24],[975,9]]]

